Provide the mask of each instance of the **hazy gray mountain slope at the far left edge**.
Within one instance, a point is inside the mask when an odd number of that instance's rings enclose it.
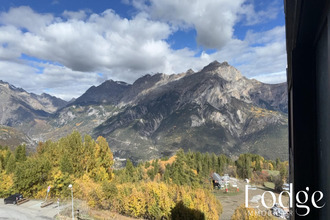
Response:
[[[11,127],[2,129],[0,142],[9,146],[27,144],[29,149],[34,148],[36,142],[31,135],[38,128],[38,123],[47,120],[66,104],[54,96],[28,93],[0,80],[0,125]]]

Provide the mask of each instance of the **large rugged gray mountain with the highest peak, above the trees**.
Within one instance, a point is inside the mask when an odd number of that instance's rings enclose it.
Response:
[[[287,157],[286,84],[247,79],[226,62],[196,73],[144,76],[120,105],[121,112],[94,129],[120,157],[148,159],[180,147]],[[258,144],[256,135],[262,137]]]

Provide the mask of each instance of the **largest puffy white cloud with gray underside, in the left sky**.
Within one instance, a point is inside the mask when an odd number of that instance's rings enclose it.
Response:
[[[0,21],[13,20],[18,10],[30,13],[25,7],[12,9],[6,14],[6,19],[0,18]],[[38,14],[33,12],[31,17],[37,18]],[[47,21],[40,21],[39,28],[37,25],[35,31],[26,33],[19,30],[29,24],[11,22],[16,29],[8,33],[15,33],[16,42],[7,49],[18,48],[21,53],[56,61],[76,71],[104,71],[118,66],[148,71],[150,67],[161,64],[168,49],[163,39],[171,34],[167,24],[150,21],[143,14],[128,20],[120,18],[112,10],[101,15],[92,14],[86,21],[57,20],[48,25],[45,25]]]

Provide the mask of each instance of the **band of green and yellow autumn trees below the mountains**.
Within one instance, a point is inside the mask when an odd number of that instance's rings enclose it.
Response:
[[[25,146],[15,151],[1,147],[0,197],[20,192],[44,198],[51,186],[50,199],[68,199],[72,184],[75,198],[101,210],[147,219],[218,219],[222,206],[212,194],[213,172],[253,181],[262,181],[264,169],[279,170],[281,180],[287,175],[287,162],[253,154],[233,161],[225,155],[179,150],[173,157],[136,166],[127,160],[120,170],[113,170],[113,163],[103,137],[93,140],[78,132],[39,143],[37,152],[28,156]]]

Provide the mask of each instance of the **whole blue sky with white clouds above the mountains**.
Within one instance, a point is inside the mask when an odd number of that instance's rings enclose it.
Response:
[[[281,0],[1,0],[0,80],[65,100],[227,61],[286,81]]]

